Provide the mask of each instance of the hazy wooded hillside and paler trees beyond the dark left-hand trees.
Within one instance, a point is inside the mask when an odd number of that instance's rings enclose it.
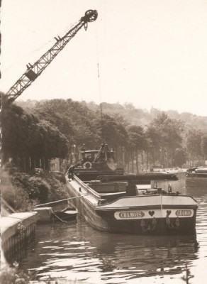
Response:
[[[18,102],[19,106],[21,104]],[[100,105],[72,99],[28,101],[28,104],[23,102],[22,107],[29,117],[38,119],[36,125],[41,131],[48,126],[51,131],[56,129],[60,133],[58,141],[55,133],[47,131],[55,139],[51,140],[50,151],[52,144],[58,148],[66,139],[68,163],[79,159],[83,144],[89,149],[99,147],[102,142],[115,148],[120,165],[133,173],[149,170],[152,165],[168,168],[202,165],[206,159],[207,116],[155,108],[146,111],[136,109],[133,104],[102,103],[101,117]],[[43,149],[47,153],[47,149]],[[63,157],[60,153],[55,155]],[[47,158],[51,157],[47,154]]]

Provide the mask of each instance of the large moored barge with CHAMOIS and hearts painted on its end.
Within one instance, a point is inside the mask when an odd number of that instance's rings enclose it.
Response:
[[[177,180],[167,173],[123,175],[107,170],[107,153],[101,146],[97,155],[105,160],[95,177],[87,168],[66,175],[70,202],[95,229],[124,234],[195,234],[197,204],[193,197],[153,187],[154,180]],[[99,160],[96,158],[96,163]],[[111,160],[112,163],[112,160]],[[93,165],[94,163],[91,163]],[[99,169],[99,170],[98,170]],[[108,171],[109,174],[106,174]]]

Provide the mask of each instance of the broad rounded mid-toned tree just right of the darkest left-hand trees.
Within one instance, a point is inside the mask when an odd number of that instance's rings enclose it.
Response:
[[[89,147],[100,144],[96,114],[85,104],[73,102],[72,99],[52,99],[37,104],[33,111],[41,120],[50,122],[64,134],[68,141],[68,158],[71,161],[74,155],[78,158],[83,143]]]

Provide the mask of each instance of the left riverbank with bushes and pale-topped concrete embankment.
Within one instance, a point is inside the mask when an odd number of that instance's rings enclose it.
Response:
[[[18,258],[23,258],[22,253],[35,238],[38,219],[35,206],[68,197],[65,175],[48,172],[21,173],[13,165],[9,165],[1,169],[1,197],[4,202],[1,204],[0,283],[57,283],[52,280],[37,281],[33,273],[19,273]],[[57,206],[64,207],[65,203],[60,202]]]

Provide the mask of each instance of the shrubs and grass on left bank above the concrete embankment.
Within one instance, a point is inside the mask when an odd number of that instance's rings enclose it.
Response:
[[[1,197],[15,212],[32,212],[37,204],[67,198],[62,173],[21,173],[11,165],[1,170]]]

